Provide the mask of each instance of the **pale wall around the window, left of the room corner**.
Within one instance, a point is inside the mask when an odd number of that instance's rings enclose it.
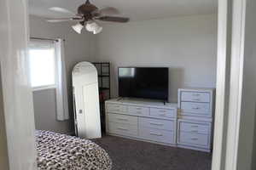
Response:
[[[74,23],[48,23],[44,19],[30,16],[31,37],[64,38],[67,65],[67,84],[70,112],[72,109],[71,72],[73,65],[79,61],[90,60],[94,56],[94,37],[84,31],[81,35],[75,33],[71,26]],[[71,121],[57,122],[55,119],[55,90],[47,89],[33,93],[36,128],[61,133],[73,132]]]

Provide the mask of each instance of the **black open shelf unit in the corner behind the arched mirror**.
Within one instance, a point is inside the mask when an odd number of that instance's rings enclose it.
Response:
[[[93,62],[98,72],[102,133],[106,133],[105,101],[110,99],[110,63]]]

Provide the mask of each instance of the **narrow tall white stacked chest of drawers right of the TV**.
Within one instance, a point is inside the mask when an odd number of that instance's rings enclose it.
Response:
[[[178,89],[177,146],[212,150],[213,88]]]

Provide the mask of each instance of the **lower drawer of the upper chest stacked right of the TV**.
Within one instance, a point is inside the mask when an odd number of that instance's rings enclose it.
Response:
[[[182,112],[195,113],[197,115],[210,115],[209,103],[181,102]]]

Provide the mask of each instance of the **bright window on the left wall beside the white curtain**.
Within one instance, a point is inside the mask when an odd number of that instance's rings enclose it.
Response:
[[[55,86],[56,55],[54,42],[32,41],[29,48],[29,65],[32,88]]]

